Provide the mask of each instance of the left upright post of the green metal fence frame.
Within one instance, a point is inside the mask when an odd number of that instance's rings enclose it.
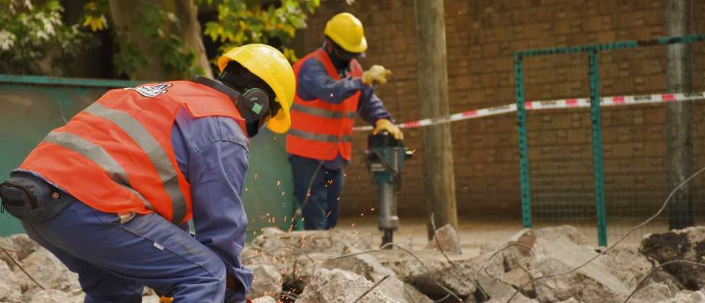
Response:
[[[514,53],[514,82],[517,97],[517,134],[519,135],[519,177],[522,193],[522,225],[533,227],[531,220],[531,185],[529,184],[529,154],[527,147],[527,120],[524,107],[524,61],[522,54]]]

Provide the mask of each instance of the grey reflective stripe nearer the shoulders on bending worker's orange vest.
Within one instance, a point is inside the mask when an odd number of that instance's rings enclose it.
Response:
[[[147,153],[149,160],[152,161],[154,168],[157,169],[157,175],[159,175],[161,184],[164,186],[164,190],[166,190],[169,199],[171,199],[172,222],[176,224],[181,222],[186,215],[186,202],[178,186],[176,168],[171,165],[171,161],[169,161],[164,149],[161,149],[157,139],[152,137],[152,134],[142,126],[140,121],[135,120],[135,118],[130,117],[130,115],[122,111],[109,109],[96,102],[88,106],[85,112],[115,123],[142,147],[142,150]],[[95,163],[104,168],[103,163]]]

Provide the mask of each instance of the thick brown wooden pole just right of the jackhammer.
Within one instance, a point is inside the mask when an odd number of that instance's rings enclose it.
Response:
[[[419,48],[420,118],[441,118],[450,113],[443,0],[414,2]],[[434,214],[437,228],[447,223],[458,228],[450,125],[443,123],[422,128],[422,142],[429,216]],[[433,234],[430,222],[428,228],[430,239]]]

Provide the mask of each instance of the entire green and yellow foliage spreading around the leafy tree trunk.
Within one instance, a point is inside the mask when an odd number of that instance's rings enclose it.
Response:
[[[278,44],[290,61],[296,56],[288,46],[296,30],[307,26],[307,14],[314,13],[320,1],[195,0],[217,8],[218,19],[204,25],[204,34],[223,44],[220,51],[249,43]],[[183,40],[173,34],[180,20],[154,1],[140,1],[140,13],[130,22],[131,32],[140,32],[151,41],[147,49],[137,47],[123,30],[111,28],[109,0],[89,1],[80,24],[75,25],[63,23],[59,0],[43,3],[0,0],[0,73],[64,75],[82,51],[97,45],[91,32],[111,30],[118,73],[134,78],[139,68],[149,66],[147,54],[160,54],[171,73],[203,74],[195,51],[186,49]]]

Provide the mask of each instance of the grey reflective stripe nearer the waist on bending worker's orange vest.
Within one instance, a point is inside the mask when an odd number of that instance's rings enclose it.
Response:
[[[60,145],[77,154],[80,154],[81,156],[85,156],[90,161],[93,161],[93,163],[96,163],[102,167],[106,173],[110,175],[111,180],[125,187],[126,190],[129,190],[140,198],[147,209],[154,210],[152,204],[149,204],[147,199],[142,197],[142,194],[136,190],[133,190],[132,185],[130,185],[128,173],[125,172],[125,169],[123,169],[123,167],[120,166],[120,164],[118,164],[118,162],[115,161],[115,159],[113,159],[113,157],[111,157],[110,154],[108,154],[108,152],[106,152],[102,147],[92,144],[91,142],[84,140],[82,137],[73,135],[71,132],[49,132],[49,135],[44,137],[42,142]]]

